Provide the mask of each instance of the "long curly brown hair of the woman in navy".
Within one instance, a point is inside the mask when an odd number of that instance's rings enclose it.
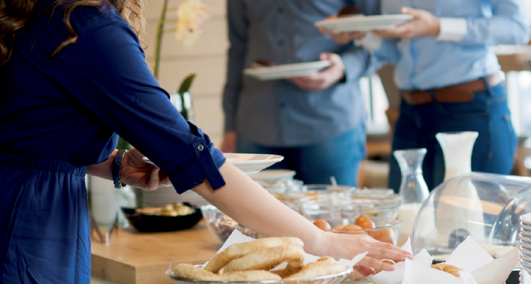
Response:
[[[9,61],[15,36],[35,16],[34,9],[37,1],[0,0],[0,65],[4,65]],[[52,56],[78,39],[78,34],[70,22],[72,11],[80,6],[96,7],[103,4],[113,5],[122,14],[122,18],[140,36],[144,23],[142,0],[56,0],[50,8],[65,7],[63,22],[66,25],[69,36],[55,49]]]

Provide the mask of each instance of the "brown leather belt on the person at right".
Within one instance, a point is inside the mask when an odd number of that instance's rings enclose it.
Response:
[[[490,87],[494,87],[503,81],[500,73],[495,73],[487,77]],[[487,87],[483,78],[474,81],[451,85],[448,87],[427,91],[406,91],[401,90],[402,99],[410,105],[422,105],[433,102],[430,91],[437,102],[469,102],[474,99],[474,92],[483,91]]]

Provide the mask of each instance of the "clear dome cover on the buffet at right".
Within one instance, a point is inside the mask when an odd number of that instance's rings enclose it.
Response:
[[[456,176],[422,204],[412,234],[413,252],[448,255],[468,235],[494,257],[518,244],[519,217],[531,212],[531,178],[486,173]]]

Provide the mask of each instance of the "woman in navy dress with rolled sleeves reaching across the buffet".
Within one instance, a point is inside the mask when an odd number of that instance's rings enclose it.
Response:
[[[0,1],[0,283],[89,283],[85,174],[193,190],[265,236],[392,270],[401,249],[321,231],[230,163],[145,63],[139,0]],[[132,28],[134,27],[134,28]],[[122,136],[135,149],[116,150]],[[158,167],[142,161],[149,157]]]

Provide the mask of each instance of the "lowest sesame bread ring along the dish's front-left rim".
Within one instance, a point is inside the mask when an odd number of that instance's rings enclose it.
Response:
[[[280,276],[264,270],[236,271],[218,275],[189,263],[179,263],[173,273],[176,277],[200,281],[263,281],[280,280]]]

